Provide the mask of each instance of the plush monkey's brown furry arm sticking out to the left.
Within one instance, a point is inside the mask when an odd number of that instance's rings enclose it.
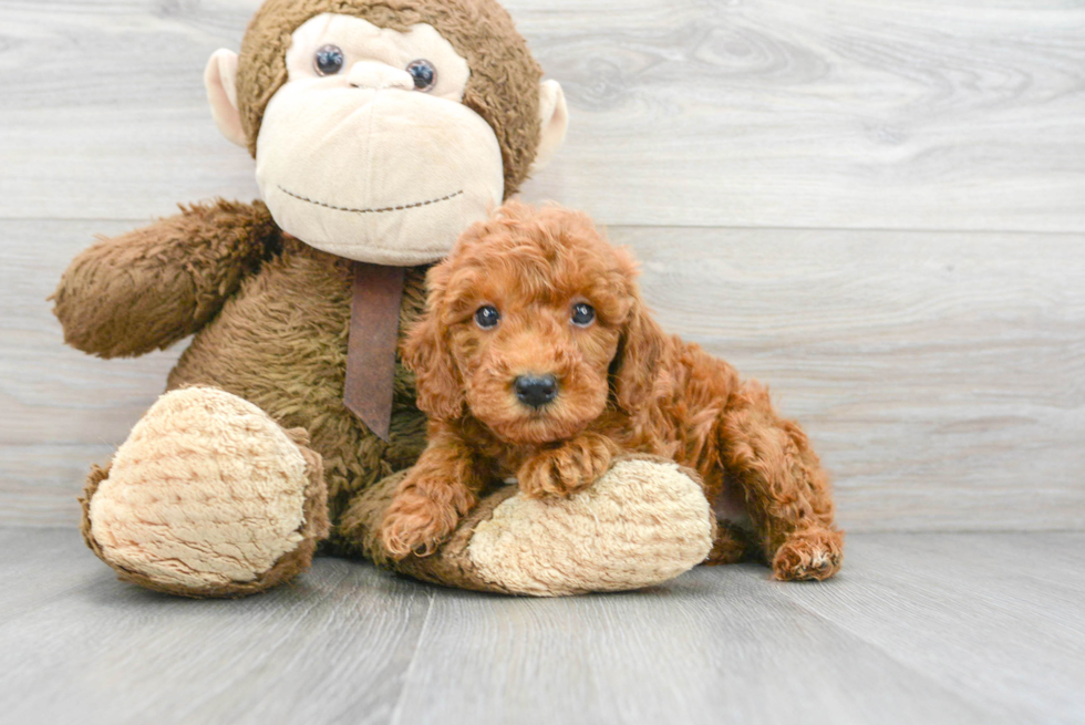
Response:
[[[50,298],[64,341],[101,358],[161,350],[198,331],[281,244],[262,201],[216,201],[104,239]]]

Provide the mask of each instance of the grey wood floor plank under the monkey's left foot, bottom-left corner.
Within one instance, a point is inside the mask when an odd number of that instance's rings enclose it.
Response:
[[[3,723],[386,723],[432,598],[324,559],[269,595],[184,600],[116,581],[75,531],[0,543]]]

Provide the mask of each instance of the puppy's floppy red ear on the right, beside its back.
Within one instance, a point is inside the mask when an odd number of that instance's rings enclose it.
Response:
[[[662,358],[668,336],[644,305],[633,281],[636,265],[627,259],[626,273],[632,305],[622,325],[618,354],[610,365],[610,372],[618,405],[632,412],[657,397],[657,382],[665,374]]]

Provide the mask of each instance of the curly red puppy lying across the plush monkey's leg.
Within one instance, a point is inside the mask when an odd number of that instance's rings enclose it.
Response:
[[[760,384],[664,334],[636,275],[586,215],[515,203],[430,271],[404,343],[430,443],[385,514],[392,556],[432,553],[495,480],[568,496],[644,452],[695,468],[709,500],[744,501],[754,532],[722,522],[710,562],[753,549],[779,579],[836,573],[843,532],[806,435]]]

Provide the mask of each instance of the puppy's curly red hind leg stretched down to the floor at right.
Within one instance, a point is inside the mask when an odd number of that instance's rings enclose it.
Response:
[[[844,559],[828,476],[799,426],[781,418],[768,391],[744,383],[722,418],[722,460],[737,481],[777,579],[828,579]]]

